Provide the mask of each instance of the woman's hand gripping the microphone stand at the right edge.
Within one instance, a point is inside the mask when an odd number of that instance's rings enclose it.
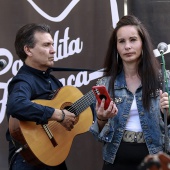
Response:
[[[166,109],[168,111],[169,108],[169,100],[168,100],[168,93],[167,92],[162,92],[160,90],[160,108],[163,113],[163,109]]]

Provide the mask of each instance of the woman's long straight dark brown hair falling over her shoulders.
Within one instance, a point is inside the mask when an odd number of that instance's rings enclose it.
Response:
[[[118,55],[117,51],[117,31],[123,26],[135,26],[139,36],[142,40],[142,51],[141,59],[138,65],[138,74],[141,78],[142,83],[142,102],[143,107],[149,110],[150,107],[150,95],[156,96],[156,91],[159,88],[159,69],[160,64],[153,53],[153,45],[151,42],[150,35],[139,21],[138,18],[132,15],[123,16],[117,23],[116,28],[113,30],[111,35],[109,46],[104,62],[105,75],[111,76],[109,82],[109,90],[112,91],[114,97],[114,82],[116,76],[123,70],[122,59]],[[118,59],[117,59],[118,58]]]

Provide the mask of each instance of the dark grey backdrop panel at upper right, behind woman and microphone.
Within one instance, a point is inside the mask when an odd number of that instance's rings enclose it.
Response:
[[[148,29],[154,48],[160,42],[169,44],[170,40],[170,1],[169,0],[129,0],[128,14],[137,16]],[[170,69],[170,54],[164,55],[166,69]],[[161,62],[161,57],[158,57]]]

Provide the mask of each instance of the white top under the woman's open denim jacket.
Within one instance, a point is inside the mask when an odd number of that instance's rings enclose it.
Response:
[[[125,130],[133,131],[133,132],[142,132],[142,127],[139,120],[139,113],[136,105],[136,98],[134,96],[132,106],[130,109],[129,118],[126,123]]]

